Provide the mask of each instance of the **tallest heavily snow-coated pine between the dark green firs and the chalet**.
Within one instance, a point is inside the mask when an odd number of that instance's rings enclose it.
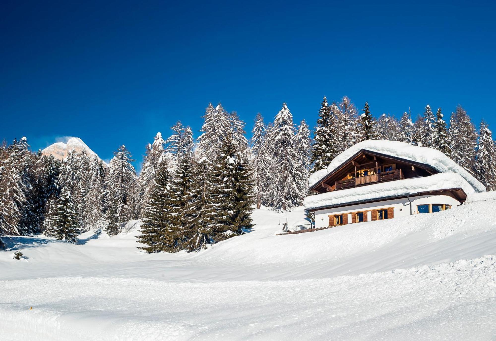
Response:
[[[270,167],[270,172],[273,174],[270,189],[273,195],[271,206],[286,211],[302,203],[302,193],[298,185],[302,174],[298,166],[295,126],[293,115],[286,103],[274,119],[274,134],[275,138],[272,141],[274,154]]]

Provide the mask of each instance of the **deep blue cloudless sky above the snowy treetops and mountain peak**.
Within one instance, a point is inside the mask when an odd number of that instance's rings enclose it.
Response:
[[[313,126],[324,95],[375,115],[461,104],[496,130],[492,1],[75,2],[2,1],[0,138],[141,161],[178,119],[198,136],[209,102],[250,130],[283,102]]]

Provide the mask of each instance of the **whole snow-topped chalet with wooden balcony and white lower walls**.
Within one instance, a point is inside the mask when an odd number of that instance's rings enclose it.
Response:
[[[347,149],[309,185],[304,205],[317,228],[444,211],[486,191],[438,150],[383,140]]]

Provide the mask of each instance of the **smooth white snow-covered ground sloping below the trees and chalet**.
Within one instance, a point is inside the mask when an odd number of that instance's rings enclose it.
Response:
[[[194,254],[139,252],[138,222],[77,245],[15,237],[0,339],[496,339],[495,200],[276,236],[286,218],[303,209],[256,210],[253,231]]]

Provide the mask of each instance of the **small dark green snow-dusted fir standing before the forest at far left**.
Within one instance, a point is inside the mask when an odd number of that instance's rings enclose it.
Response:
[[[53,235],[59,240],[64,239],[66,242],[75,243],[78,228],[76,205],[72,200],[70,190],[63,186],[55,209]]]

